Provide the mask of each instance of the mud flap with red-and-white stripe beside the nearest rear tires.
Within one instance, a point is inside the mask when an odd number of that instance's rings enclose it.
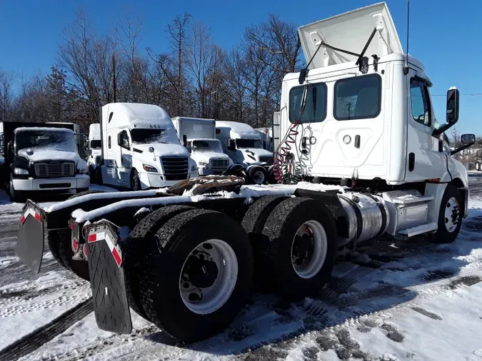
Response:
[[[108,220],[84,226],[91,278],[94,315],[101,330],[130,333],[131,311],[127,300],[119,228]]]

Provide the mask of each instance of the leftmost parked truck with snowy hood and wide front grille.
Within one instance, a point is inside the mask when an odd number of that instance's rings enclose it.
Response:
[[[89,189],[87,165],[66,128],[16,128],[7,146],[9,193],[14,201],[31,191]]]

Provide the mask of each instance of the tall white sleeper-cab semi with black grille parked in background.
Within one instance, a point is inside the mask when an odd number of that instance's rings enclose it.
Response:
[[[109,103],[101,107],[100,118],[104,184],[141,190],[198,176],[196,163],[179,143],[163,108]]]

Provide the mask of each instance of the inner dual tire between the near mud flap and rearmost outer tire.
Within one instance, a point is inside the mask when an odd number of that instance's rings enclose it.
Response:
[[[144,312],[141,304],[141,295],[139,290],[139,275],[146,265],[146,260],[149,255],[149,245],[152,243],[152,238],[164,223],[175,215],[186,212],[188,210],[196,209],[188,205],[168,205],[159,208],[139,222],[131,233],[129,238],[121,241],[122,253],[124,254],[124,269],[126,278],[127,298],[129,306],[140,316],[149,320]]]

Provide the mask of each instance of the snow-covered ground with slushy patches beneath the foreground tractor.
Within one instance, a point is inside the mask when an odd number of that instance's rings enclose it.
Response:
[[[482,173],[469,180],[482,189]],[[21,360],[482,360],[482,192],[469,206],[454,243],[360,246],[338,261],[318,297],[284,304],[255,293],[229,330],[210,340],[177,345],[134,312],[131,335],[115,335],[86,312],[32,338]],[[0,355],[90,296],[89,284],[50,254],[37,276],[19,263],[20,210],[0,195]]]

